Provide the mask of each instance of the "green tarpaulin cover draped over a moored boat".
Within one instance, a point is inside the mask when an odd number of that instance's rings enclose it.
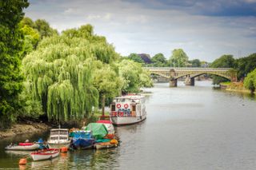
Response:
[[[102,139],[107,134],[106,126],[98,123],[90,123],[86,126],[85,130],[90,130],[96,140]]]

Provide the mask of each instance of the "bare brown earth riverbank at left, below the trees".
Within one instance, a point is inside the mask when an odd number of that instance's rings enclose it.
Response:
[[[38,132],[46,132],[50,128],[50,125],[46,125],[45,123],[32,121],[28,121],[26,123],[17,123],[11,128],[6,129],[6,131],[0,131],[0,139],[28,133],[34,134]]]

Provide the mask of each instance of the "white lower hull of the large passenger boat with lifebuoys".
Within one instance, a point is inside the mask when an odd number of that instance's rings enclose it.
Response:
[[[110,119],[113,125],[134,125],[138,122],[146,120],[146,115],[142,117],[110,117]]]

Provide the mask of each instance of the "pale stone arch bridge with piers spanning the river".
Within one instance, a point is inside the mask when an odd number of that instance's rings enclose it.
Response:
[[[202,74],[214,74],[225,77],[230,81],[237,81],[237,72],[231,68],[201,68],[201,67],[144,67],[150,73],[166,77],[170,80],[170,87],[177,87],[177,80],[186,77],[186,85],[194,85],[194,77]]]

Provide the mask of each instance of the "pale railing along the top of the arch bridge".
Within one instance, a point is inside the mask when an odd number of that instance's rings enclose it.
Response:
[[[228,71],[232,68],[209,68],[209,67],[143,67],[143,69],[154,69],[154,70],[166,70],[166,69],[174,69],[174,70],[199,70],[199,71]]]

